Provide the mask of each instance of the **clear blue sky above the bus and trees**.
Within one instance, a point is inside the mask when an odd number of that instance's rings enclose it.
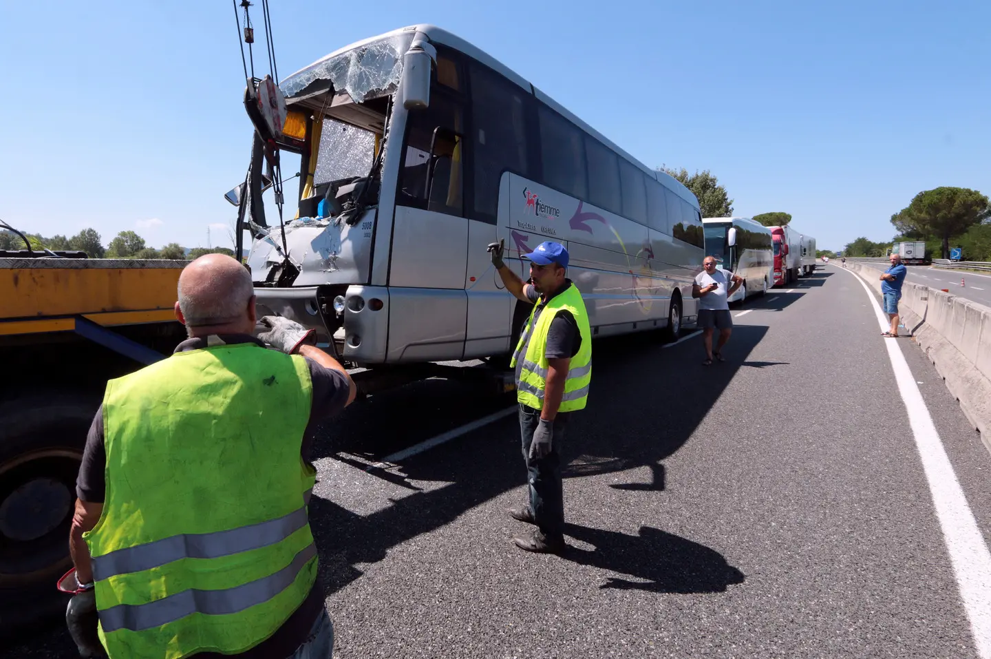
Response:
[[[272,5],[283,77],[433,23],[644,164],[711,169],[735,214],[792,213],[821,249],[890,239],[923,189],[991,193],[986,2]],[[229,244],[222,194],[244,178],[252,130],[230,2],[0,0],[0,61],[0,219],[91,226],[104,243],[135,229],[155,247],[205,246],[217,225],[214,245]]]

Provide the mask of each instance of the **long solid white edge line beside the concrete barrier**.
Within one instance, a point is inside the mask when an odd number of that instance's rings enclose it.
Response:
[[[889,323],[881,313],[874,294],[859,276],[860,285],[874,306],[878,326],[887,329]],[[922,459],[923,471],[929,481],[930,494],[936,507],[936,517],[942,528],[943,541],[956,576],[960,599],[970,619],[970,630],[981,659],[991,659],[991,552],[967,504],[953,466],[936,432],[926,400],[912,377],[908,362],[897,339],[882,339],[891,359],[891,369],[898,391],[908,412],[909,425]]]

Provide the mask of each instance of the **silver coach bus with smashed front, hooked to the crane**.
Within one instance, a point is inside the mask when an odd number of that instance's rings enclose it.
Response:
[[[462,39],[403,28],[279,88],[282,167],[295,153],[300,171],[298,197],[285,196],[298,213],[284,239],[271,211],[267,220],[256,135],[240,195],[249,267],[260,312],[315,328],[338,357],[371,366],[509,353],[528,309],[491,266],[497,241],[524,279],[520,254],[565,245],[596,336],[677,333],[696,320],[695,195]]]

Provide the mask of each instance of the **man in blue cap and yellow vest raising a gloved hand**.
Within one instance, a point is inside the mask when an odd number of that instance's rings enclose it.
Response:
[[[567,278],[568,251],[546,242],[521,259],[530,262],[524,283],[502,263],[501,243],[489,253],[506,290],[533,305],[510,365],[516,370],[516,400],[529,503],[509,510],[534,524],[532,535],[512,540],[525,551],[560,554],[564,541],[561,443],[571,412],[585,407],[592,381],[592,331],[578,287]]]

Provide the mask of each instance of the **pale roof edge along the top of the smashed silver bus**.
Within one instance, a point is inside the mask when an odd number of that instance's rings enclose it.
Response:
[[[656,169],[652,169],[652,168],[648,167],[647,165],[644,165],[643,163],[641,163],[640,161],[638,161],[637,159],[633,158],[628,153],[626,153],[623,149],[620,149],[618,146],[616,146],[611,140],[609,140],[608,138],[606,138],[606,136],[604,136],[602,133],[600,133],[599,131],[597,131],[596,129],[594,129],[592,126],[588,125],[587,123],[585,123],[581,119],[579,119],[574,113],[572,113],[570,110],[568,110],[567,108],[565,108],[563,105],[561,105],[560,103],[558,103],[557,101],[555,101],[553,98],[551,98],[550,96],[548,96],[544,92],[542,92],[539,89],[537,89],[535,86],[533,86],[532,83],[530,83],[529,81],[527,81],[524,77],[522,77],[521,75],[519,75],[518,73],[516,73],[515,71],[513,71],[511,68],[509,68],[508,66],[506,66],[502,62],[500,62],[494,56],[489,55],[488,53],[486,53],[482,49],[480,49],[480,48],[478,48],[476,46],[473,46],[472,44],[466,42],[461,37],[458,37],[457,35],[454,35],[454,34],[448,32],[447,30],[443,30],[443,29],[438,28],[437,26],[434,26],[434,25],[430,25],[430,24],[412,25],[412,26],[407,26],[405,28],[399,28],[398,30],[392,30],[391,32],[386,32],[385,34],[379,35],[377,37],[370,37],[368,39],[363,39],[363,40],[361,40],[359,42],[355,42],[354,44],[350,44],[348,46],[345,46],[343,48],[340,48],[340,49],[334,51],[333,53],[331,53],[330,55],[323,56],[323,57],[321,57],[320,59],[317,59],[315,62],[313,62],[311,64],[307,64],[306,66],[303,66],[299,70],[297,70],[294,73],[292,73],[292,75],[295,75],[296,73],[299,73],[299,72],[303,71],[304,69],[311,68],[311,67],[315,66],[316,64],[320,63],[321,61],[324,61],[326,59],[329,59],[330,57],[334,57],[334,56],[340,55],[342,53],[347,53],[348,51],[354,50],[356,48],[360,48],[362,46],[366,46],[368,44],[372,44],[374,42],[377,42],[377,41],[380,41],[380,40],[383,40],[383,39],[388,39],[388,38],[391,38],[391,37],[399,37],[399,36],[402,36],[404,34],[410,34],[410,33],[412,33],[412,34],[416,34],[416,33],[423,34],[423,35],[425,35],[430,40],[431,43],[441,44],[443,46],[447,46],[447,47],[452,48],[452,49],[454,49],[456,51],[459,51],[461,53],[464,53],[465,55],[469,55],[470,57],[473,57],[475,59],[478,59],[479,61],[481,61],[486,66],[489,66],[493,70],[501,73],[507,79],[511,80],[512,82],[516,83],[517,85],[519,85],[520,87],[522,87],[523,89],[525,89],[528,93],[532,94],[538,100],[542,101],[543,103],[546,103],[548,106],[550,106],[551,108],[553,108],[554,110],[556,110],[557,112],[559,112],[561,115],[563,115],[564,117],[568,118],[576,126],[578,126],[579,128],[581,128],[585,132],[589,133],[590,135],[592,135],[595,138],[597,138],[598,140],[600,140],[603,144],[605,144],[607,147],[609,147],[610,149],[612,149],[616,154],[618,154],[619,156],[622,156],[627,161],[629,161],[631,164],[638,166],[641,170],[644,171],[644,173],[646,173],[649,176],[653,176],[656,180],[658,180],[665,187],[667,187],[672,192],[674,192],[675,194],[677,194],[679,197],[681,197],[685,201],[689,202],[694,207],[696,207],[696,208],[699,207],[699,200],[696,198],[695,194],[693,194],[692,190],[688,189],[688,187],[686,187],[677,178],[675,178],[674,176],[669,175],[668,173],[666,173],[664,171],[659,171],[659,170],[656,170]],[[288,78],[288,77],[291,77],[291,75],[286,76],[286,78]]]

